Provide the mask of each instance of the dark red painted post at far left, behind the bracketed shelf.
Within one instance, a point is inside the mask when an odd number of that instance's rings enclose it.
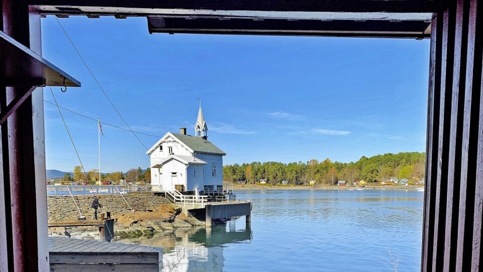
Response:
[[[29,7],[22,0],[3,1],[4,32],[29,47]],[[15,101],[25,88],[6,88],[7,102]],[[32,96],[27,97],[8,118],[8,160],[12,247],[15,271],[37,271],[38,233],[35,184],[34,126]],[[7,135],[4,135],[4,137]],[[42,144],[43,145],[43,144]],[[43,147],[43,146],[42,146]],[[4,147],[5,150],[6,147]],[[27,185],[27,186],[26,186]]]

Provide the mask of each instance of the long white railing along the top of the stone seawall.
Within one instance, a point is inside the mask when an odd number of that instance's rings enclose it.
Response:
[[[86,195],[126,193],[119,185],[47,185],[47,195]]]

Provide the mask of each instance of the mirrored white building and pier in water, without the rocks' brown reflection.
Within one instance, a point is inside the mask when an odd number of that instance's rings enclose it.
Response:
[[[201,228],[181,238],[172,252],[163,254],[163,271],[223,271],[223,244],[252,239],[250,225],[236,231],[234,221]]]

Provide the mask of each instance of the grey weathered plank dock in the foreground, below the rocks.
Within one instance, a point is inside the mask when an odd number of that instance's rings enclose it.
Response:
[[[161,271],[163,248],[49,237],[50,271]]]

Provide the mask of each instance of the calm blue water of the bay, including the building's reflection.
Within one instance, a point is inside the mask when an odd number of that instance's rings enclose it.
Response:
[[[419,271],[423,192],[237,191],[245,218],[133,241],[165,248],[165,271]],[[390,256],[392,254],[392,257]]]

